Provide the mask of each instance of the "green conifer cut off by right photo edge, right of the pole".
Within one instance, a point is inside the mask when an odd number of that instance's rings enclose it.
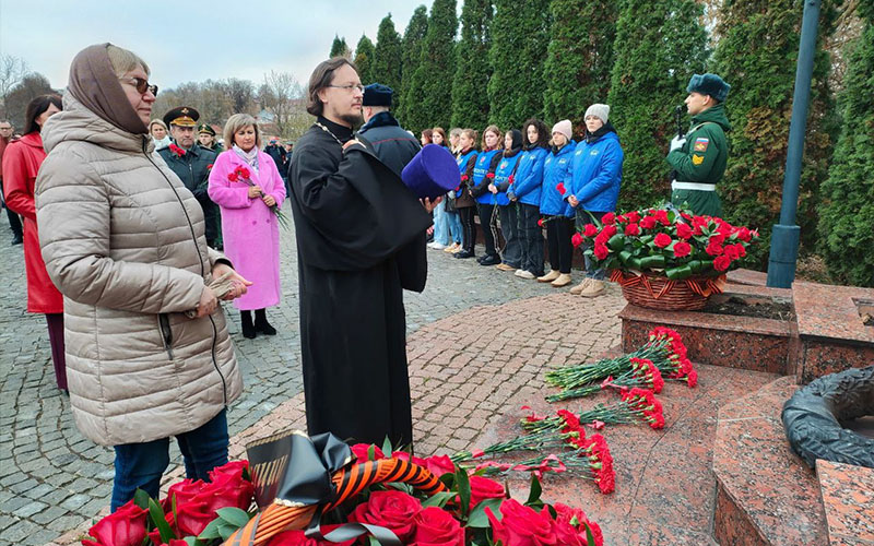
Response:
[[[874,0],[860,0],[862,35],[852,44],[840,96],[842,132],[823,185],[819,242],[842,283],[874,286]]]

